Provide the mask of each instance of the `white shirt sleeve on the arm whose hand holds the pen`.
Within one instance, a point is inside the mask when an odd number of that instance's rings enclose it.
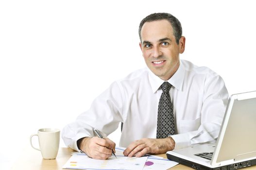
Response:
[[[120,88],[117,82],[114,82],[92,102],[89,110],[64,127],[62,130],[64,143],[79,151],[77,140],[82,137],[94,136],[93,128],[98,129],[103,137],[108,136],[118,128],[119,122],[122,121],[120,114],[122,107]]]

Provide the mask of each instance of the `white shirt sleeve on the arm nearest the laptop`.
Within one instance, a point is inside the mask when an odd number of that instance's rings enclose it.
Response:
[[[228,92],[221,76],[206,77],[201,125],[196,131],[171,136],[175,141],[175,150],[193,144],[215,142],[221,129],[227,102]]]

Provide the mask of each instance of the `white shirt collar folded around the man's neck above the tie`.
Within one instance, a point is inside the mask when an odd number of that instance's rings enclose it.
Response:
[[[148,70],[149,70],[149,82],[152,87],[152,92],[155,93],[165,81],[160,79],[158,76],[154,75],[154,73],[149,68]],[[174,88],[177,88],[178,90],[182,90],[184,76],[185,76],[185,69],[184,69],[184,66],[182,65],[182,62],[180,61],[179,68],[167,82],[169,82]]]

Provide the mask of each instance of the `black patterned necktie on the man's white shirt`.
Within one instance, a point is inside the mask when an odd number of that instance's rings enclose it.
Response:
[[[161,85],[163,93],[158,104],[156,138],[165,138],[175,135],[173,105],[171,104],[171,84],[164,82]]]

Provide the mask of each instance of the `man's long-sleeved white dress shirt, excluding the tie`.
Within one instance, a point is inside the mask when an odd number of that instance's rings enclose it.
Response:
[[[78,151],[77,140],[94,136],[93,128],[105,137],[114,132],[120,122],[123,122],[121,147],[144,137],[156,138],[158,102],[162,94],[160,85],[163,82],[148,68],[115,81],[92,102],[89,110],[63,129],[65,144]],[[209,68],[181,60],[168,82],[172,85],[170,96],[177,135],[171,137],[176,143],[175,149],[215,141],[228,101],[222,78]]]

